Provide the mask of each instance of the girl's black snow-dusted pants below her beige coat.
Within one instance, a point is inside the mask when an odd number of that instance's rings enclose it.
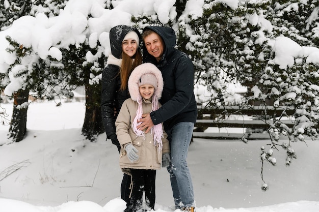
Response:
[[[129,207],[132,208],[132,211],[141,209],[143,192],[145,192],[147,207],[154,209],[156,170],[130,169],[130,172],[132,174],[133,187]]]

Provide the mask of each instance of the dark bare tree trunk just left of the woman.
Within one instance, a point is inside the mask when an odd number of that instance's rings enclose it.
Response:
[[[101,117],[101,89],[99,85],[85,85],[86,110],[82,134],[90,141],[95,141],[97,136],[104,132]]]

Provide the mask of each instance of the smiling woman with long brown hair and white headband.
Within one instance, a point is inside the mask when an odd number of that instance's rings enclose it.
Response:
[[[127,25],[117,25],[111,28],[111,54],[107,66],[102,73],[101,111],[102,121],[107,138],[117,146],[120,143],[116,136],[115,120],[123,102],[129,98],[127,81],[131,71],[142,64],[142,54],[139,48],[141,35],[137,28]],[[121,184],[121,198],[130,203],[129,172],[124,172]]]

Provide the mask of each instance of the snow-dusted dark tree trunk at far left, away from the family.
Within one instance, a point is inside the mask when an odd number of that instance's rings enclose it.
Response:
[[[26,113],[28,112],[29,90],[19,90],[14,94],[13,112],[9,128],[9,138],[13,142],[19,142],[26,133]]]

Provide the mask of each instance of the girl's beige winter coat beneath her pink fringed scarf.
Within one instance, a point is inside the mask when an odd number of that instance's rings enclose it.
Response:
[[[142,102],[143,114],[149,113],[152,109],[152,103],[144,99]],[[162,164],[162,154],[170,153],[169,142],[164,129],[164,138],[162,139],[163,149],[160,152],[158,152],[158,147],[154,146],[150,132],[145,134],[145,140],[143,137],[136,136],[131,126],[136,116],[137,109],[138,103],[136,101],[133,101],[131,98],[125,100],[115,122],[116,135],[121,144],[120,167],[124,172],[125,168],[160,169]],[[139,159],[135,162],[130,162],[126,156],[125,146],[128,143],[132,143],[139,151],[137,153],[139,155]]]

